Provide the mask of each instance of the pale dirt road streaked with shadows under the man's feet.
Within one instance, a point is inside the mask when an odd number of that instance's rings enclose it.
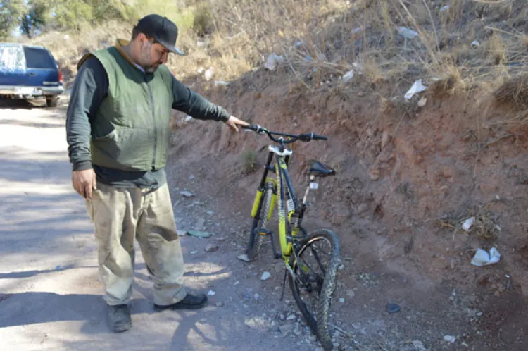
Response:
[[[63,109],[18,104],[4,106],[0,115],[0,350],[280,347],[284,338],[271,319],[274,311],[261,304],[264,295],[251,293],[257,286],[249,287],[234,276],[233,269],[244,263],[222,248],[219,235],[210,240],[182,237],[187,285],[215,292],[206,309],[154,312],[151,281],[137,247],[133,328],[110,333],[100,297],[92,223],[70,186]],[[204,252],[215,242],[220,250]],[[251,299],[241,301],[240,296],[244,300],[248,293]],[[303,343],[298,350],[313,350],[310,340],[299,340]]]

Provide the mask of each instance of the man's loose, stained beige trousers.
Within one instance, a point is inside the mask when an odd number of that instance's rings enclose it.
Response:
[[[158,189],[97,184],[86,199],[99,245],[99,277],[107,304],[127,304],[134,279],[134,238],[153,279],[154,303],[174,304],[187,292],[168,185]]]

